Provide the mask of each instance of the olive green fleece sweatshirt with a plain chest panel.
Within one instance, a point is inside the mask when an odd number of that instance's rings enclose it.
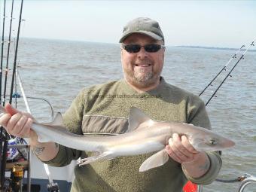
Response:
[[[64,124],[72,133],[125,133],[130,107],[135,106],[153,120],[193,123],[210,128],[204,103],[161,78],[154,90],[137,93],[124,80],[86,88],[78,94],[63,115]],[[187,179],[197,184],[209,184],[221,169],[218,152],[207,153],[210,169],[201,178],[191,178],[180,163],[171,158],[163,166],[139,172],[139,166],[154,153],[132,157],[117,157],[75,167],[72,192],[78,191],[168,191],[178,192]],[[72,160],[93,155],[59,146],[59,153],[47,162],[51,166],[66,166]]]

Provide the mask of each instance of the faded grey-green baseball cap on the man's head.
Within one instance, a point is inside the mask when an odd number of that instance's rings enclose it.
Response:
[[[127,25],[123,27],[123,35],[120,38],[119,43],[122,43],[126,37],[133,33],[141,33],[148,35],[155,40],[164,41],[163,32],[160,29],[159,23],[147,17],[138,17],[127,23]]]

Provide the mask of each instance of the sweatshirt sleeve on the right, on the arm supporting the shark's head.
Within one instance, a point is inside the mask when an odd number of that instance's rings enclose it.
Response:
[[[202,126],[211,130],[211,124],[204,102],[197,96],[194,97],[195,98],[190,99],[190,102],[187,104],[187,123],[192,123],[196,126]],[[212,181],[215,181],[215,178],[217,178],[220,172],[222,166],[220,151],[206,152],[206,154],[209,157],[210,166],[206,174],[200,178],[191,177],[182,166],[184,175],[195,184],[210,184]]]

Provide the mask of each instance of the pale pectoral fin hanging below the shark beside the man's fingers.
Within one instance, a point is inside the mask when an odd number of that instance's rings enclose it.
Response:
[[[145,160],[142,165],[139,167],[139,172],[145,172],[148,169],[152,169],[157,166],[163,166],[169,160],[169,156],[166,153],[166,149],[163,148],[161,151],[158,151],[156,154],[153,154],[147,160]]]

